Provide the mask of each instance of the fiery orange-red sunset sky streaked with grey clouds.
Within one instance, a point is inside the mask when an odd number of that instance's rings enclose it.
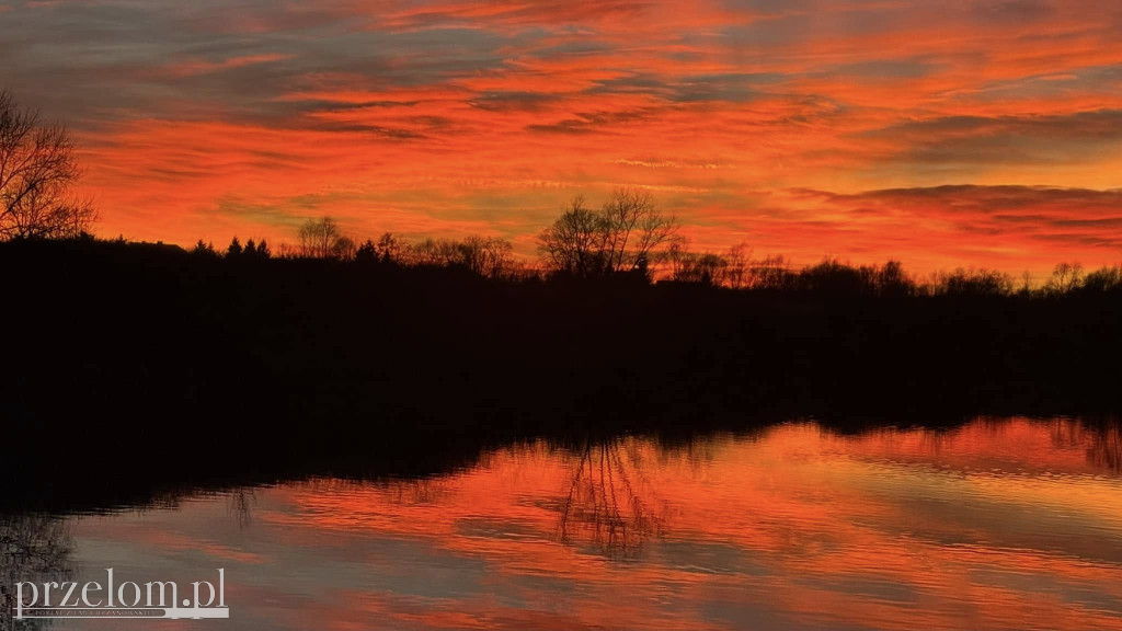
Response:
[[[0,0],[98,232],[534,237],[643,186],[691,248],[1122,260],[1114,0]]]

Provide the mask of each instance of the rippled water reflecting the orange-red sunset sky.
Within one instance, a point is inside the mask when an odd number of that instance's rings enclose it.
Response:
[[[1120,467],[1078,421],[792,423],[21,528],[80,580],[226,568],[228,621],[63,629],[1122,629]]]

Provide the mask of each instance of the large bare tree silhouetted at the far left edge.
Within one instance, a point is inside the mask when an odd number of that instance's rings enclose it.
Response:
[[[73,188],[82,175],[65,127],[0,91],[0,238],[68,238],[96,221]]]

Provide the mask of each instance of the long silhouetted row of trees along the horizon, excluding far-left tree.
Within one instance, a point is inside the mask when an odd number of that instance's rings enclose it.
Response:
[[[358,243],[330,217],[309,219],[295,245],[280,244],[274,255],[263,239],[245,245],[234,237],[224,250],[200,240],[193,253],[228,259],[331,259],[401,267],[458,267],[479,276],[530,278],[624,276],[714,289],[818,292],[885,298],[944,294],[1048,296],[1073,292],[1122,290],[1122,265],[1086,272],[1078,263],[1060,263],[1037,282],[1028,272],[1014,276],[987,268],[957,268],[928,275],[908,272],[899,260],[852,265],[835,257],[798,268],[783,256],[754,257],[746,243],[719,253],[695,252],[678,236],[673,218],[657,212],[653,196],[635,189],[614,191],[600,211],[574,196],[553,225],[537,237],[540,266],[514,256],[511,241],[498,237],[411,241],[392,232]]]

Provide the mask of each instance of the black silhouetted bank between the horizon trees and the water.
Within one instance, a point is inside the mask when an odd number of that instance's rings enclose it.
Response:
[[[533,436],[1107,414],[1122,392],[1110,271],[1020,291],[826,263],[729,290],[90,238],[0,243],[0,268],[9,506],[430,473]]]

